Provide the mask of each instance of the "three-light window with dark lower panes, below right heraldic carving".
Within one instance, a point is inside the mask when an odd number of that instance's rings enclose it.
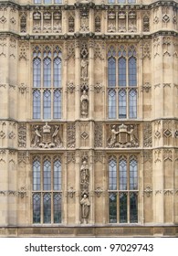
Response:
[[[138,222],[138,189],[137,157],[111,156],[109,160],[110,223]]]

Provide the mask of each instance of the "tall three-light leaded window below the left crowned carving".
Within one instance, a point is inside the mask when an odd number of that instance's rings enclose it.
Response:
[[[62,221],[62,165],[58,156],[33,161],[33,223]]]

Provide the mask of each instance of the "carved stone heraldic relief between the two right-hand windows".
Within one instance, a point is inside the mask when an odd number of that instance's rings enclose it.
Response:
[[[139,124],[108,124],[107,125],[108,147],[138,147]]]

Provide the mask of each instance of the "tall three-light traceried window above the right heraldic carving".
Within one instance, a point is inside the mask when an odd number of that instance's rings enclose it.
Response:
[[[108,117],[137,118],[137,58],[134,46],[108,51]]]

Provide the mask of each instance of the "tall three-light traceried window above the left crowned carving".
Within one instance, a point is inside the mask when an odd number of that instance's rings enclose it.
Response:
[[[33,119],[62,118],[62,58],[57,46],[34,48]],[[43,56],[43,59],[41,58]]]

